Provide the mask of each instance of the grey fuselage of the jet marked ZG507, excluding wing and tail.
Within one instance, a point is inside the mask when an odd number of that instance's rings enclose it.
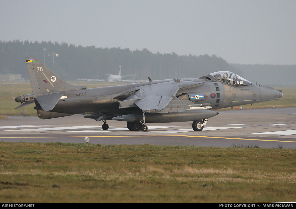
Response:
[[[170,81],[173,81],[173,79],[65,91],[63,98],[59,100],[54,109],[52,109],[52,112],[84,115],[104,113],[113,116],[135,112],[141,113],[138,107],[120,109],[118,102],[126,99],[136,90],[139,90],[141,86],[163,83],[164,86],[158,90],[161,91],[165,88],[165,83]],[[191,100],[194,104],[207,103],[207,106],[212,107],[211,109],[253,104],[279,99],[282,96],[281,92],[270,87],[260,87],[254,84],[236,87],[206,78],[181,79],[181,81],[190,81],[192,83],[204,82],[204,84],[179,90],[176,94],[178,99]],[[157,91],[151,92],[151,94],[157,94]],[[203,98],[191,98],[193,95],[203,95]]]

